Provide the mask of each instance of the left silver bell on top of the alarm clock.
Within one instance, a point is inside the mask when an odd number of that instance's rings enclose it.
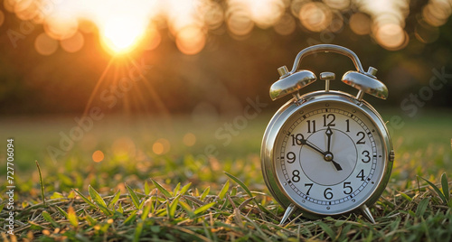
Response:
[[[313,83],[317,78],[310,70],[300,70],[290,73],[286,66],[278,68],[280,78],[271,85],[270,98],[276,100],[287,94],[297,92],[301,88]]]

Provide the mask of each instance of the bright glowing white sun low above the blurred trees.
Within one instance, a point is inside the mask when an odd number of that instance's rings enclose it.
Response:
[[[101,30],[103,45],[114,54],[133,51],[146,31],[138,23],[143,22],[132,16],[108,19]]]

